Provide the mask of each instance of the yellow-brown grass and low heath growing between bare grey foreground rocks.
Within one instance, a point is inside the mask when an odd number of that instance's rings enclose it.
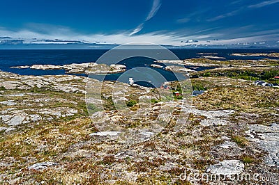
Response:
[[[0,134],[0,160],[10,162],[10,166],[0,169],[1,175],[5,177],[3,181],[19,177],[18,184],[190,184],[177,179],[184,168],[197,168],[203,172],[209,165],[225,159],[241,159],[250,164],[249,168],[257,168],[260,163],[257,159],[263,157],[259,157],[262,152],[255,150],[255,146],[243,137],[240,116],[241,113],[276,113],[274,109],[278,107],[278,90],[251,86],[248,81],[229,77],[197,78],[192,79],[192,83],[194,89],[207,90],[203,95],[193,98],[193,105],[204,110],[234,109],[236,113],[230,116],[230,124],[202,127],[199,122],[205,118],[190,114],[185,131],[177,134],[173,132],[176,121],[173,118],[160,134],[135,145],[91,138],[89,134],[97,129],[87,115],[84,95],[80,93],[37,89],[37,93],[24,97],[5,97],[30,91],[3,90],[1,101],[10,98],[18,103],[17,108],[24,110],[38,108],[38,104],[32,103],[33,99],[46,97],[50,101],[42,104],[47,108],[71,107],[78,110],[73,117],[42,121],[38,125],[26,124],[13,134]],[[112,85],[105,82],[107,84]],[[113,108],[110,92],[109,86],[105,86],[103,100],[107,110]],[[144,93],[144,90],[131,88],[127,93],[131,95],[124,96],[137,102],[135,99],[140,95],[150,95],[153,96],[151,102],[155,104],[160,100],[157,93],[158,90]],[[28,106],[24,102],[32,104]],[[5,108],[2,105],[1,109]],[[132,108],[137,108],[137,105],[134,104]],[[89,109],[98,111],[95,104],[89,104]],[[264,119],[269,122],[269,118]],[[275,120],[274,117],[270,119]],[[135,120],[128,125],[129,128],[139,126],[145,127],[145,120]],[[215,151],[223,143],[221,136],[232,136],[232,140],[244,150],[232,156]],[[27,169],[33,163],[43,161],[54,161],[59,166],[42,171]],[[135,182],[131,180],[133,177]]]

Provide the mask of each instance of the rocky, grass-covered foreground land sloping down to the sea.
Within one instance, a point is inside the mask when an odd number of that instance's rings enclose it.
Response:
[[[202,72],[191,84],[205,93],[183,104],[158,89],[126,83],[0,72],[1,184],[218,183],[191,173],[223,175],[223,184],[278,184],[279,90]],[[177,82],[170,86],[178,88]],[[117,142],[119,132],[97,127],[146,128],[168,108],[165,127],[142,132],[138,143]],[[141,111],[148,113],[142,117]],[[269,182],[229,178],[237,174]]]

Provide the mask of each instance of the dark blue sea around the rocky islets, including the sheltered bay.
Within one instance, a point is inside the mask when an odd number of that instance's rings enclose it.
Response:
[[[234,53],[272,53],[278,52],[279,49],[170,49],[177,58],[183,60],[187,58],[201,58],[202,56],[217,56],[213,60],[259,60],[270,58],[266,56],[232,56]],[[89,63],[96,62],[100,56],[103,56],[108,50],[105,49],[0,49],[0,70],[5,72],[13,72],[21,75],[56,75],[66,74],[65,70],[32,70],[32,69],[17,69],[10,68],[18,65],[34,65],[34,64],[50,64],[50,65],[65,65],[71,63]],[[129,51],[126,51],[129,52]],[[162,51],[164,52],[164,50]],[[156,52],[160,55],[160,51]],[[169,59],[169,58],[166,58]],[[278,59],[278,58],[271,58]],[[112,59],[113,60],[113,59]],[[135,83],[141,86],[160,86],[163,81],[175,81],[185,79],[182,74],[174,74],[167,70],[150,67],[151,64],[163,65],[154,63],[156,59],[135,56],[126,58],[120,61],[119,64],[126,65],[127,71],[137,67],[147,67],[145,72],[140,72],[144,76],[144,81],[137,80]],[[186,66],[186,68],[195,69],[196,71],[210,69],[212,67]],[[153,74],[161,74],[164,79],[159,81]],[[67,75],[82,75],[86,74],[67,74]],[[136,74],[135,74],[136,75]],[[139,75],[139,74],[137,74]],[[128,78],[133,77],[133,74],[123,77],[123,74],[107,74],[105,75],[90,75],[94,79],[104,79],[107,81],[122,81],[128,83]],[[120,78],[121,77],[121,78]],[[134,77],[137,79],[137,77]],[[119,80],[121,79],[121,80]],[[147,79],[147,80],[146,80]],[[156,81],[153,82],[153,81]]]

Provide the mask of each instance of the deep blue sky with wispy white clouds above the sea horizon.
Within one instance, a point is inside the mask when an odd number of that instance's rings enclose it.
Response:
[[[279,0],[0,0],[0,48],[279,47]]]

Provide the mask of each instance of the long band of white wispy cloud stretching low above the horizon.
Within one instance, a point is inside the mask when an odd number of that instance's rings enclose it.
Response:
[[[33,24],[36,27],[36,24]],[[199,40],[199,45],[230,45],[239,42],[252,43],[272,41],[273,43],[278,40],[279,29],[265,30],[258,32],[247,32],[250,26],[236,27],[234,29],[216,29],[216,32],[202,34],[203,32],[210,31],[206,29],[202,31],[180,31],[180,32],[167,32],[157,31],[145,34],[137,34],[130,36],[130,31],[123,31],[122,33],[115,34],[84,34],[78,33],[66,27],[57,27],[53,25],[39,24],[40,30],[30,28],[21,29],[17,31],[10,31],[0,27],[1,37],[10,37],[11,39],[21,39],[24,43],[56,43],[66,44],[75,43],[77,41],[84,43],[100,43],[100,44],[118,44],[123,45],[129,42],[151,42],[158,45],[190,45],[181,42],[182,40]],[[44,31],[42,31],[43,29]],[[244,35],[244,36],[243,36]],[[34,39],[36,38],[36,39]],[[47,40],[47,41],[45,41]],[[210,40],[210,42],[206,42]],[[279,42],[277,42],[279,43]]]

